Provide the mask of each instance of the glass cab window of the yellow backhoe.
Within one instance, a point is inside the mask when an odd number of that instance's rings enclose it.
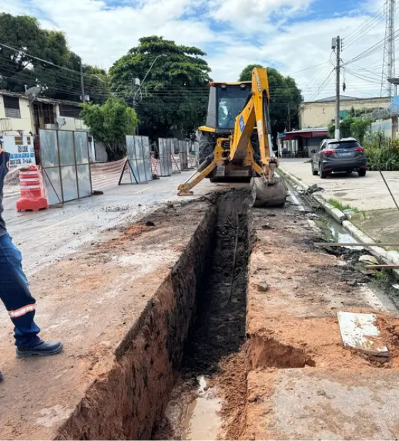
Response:
[[[219,129],[234,129],[235,119],[244,109],[249,92],[250,85],[218,87]]]

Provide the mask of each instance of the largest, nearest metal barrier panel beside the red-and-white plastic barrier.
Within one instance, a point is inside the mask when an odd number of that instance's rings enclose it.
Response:
[[[39,130],[40,156],[48,203],[63,203],[93,193],[87,132]]]

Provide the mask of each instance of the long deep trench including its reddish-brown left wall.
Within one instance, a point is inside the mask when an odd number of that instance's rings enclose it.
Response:
[[[113,368],[86,390],[54,440],[180,439],[184,418],[176,427],[167,418],[173,398],[191,403],[199,383],[210,390],[224,372],[229,383],[231,366],[241,389],[227,403],[244,404],[248,198],[249,191],[233,189],[177,209],[182,223],[185,213],[198,212],[195,233],[120,341]],[[155,223],[165,216],[155,215]]]

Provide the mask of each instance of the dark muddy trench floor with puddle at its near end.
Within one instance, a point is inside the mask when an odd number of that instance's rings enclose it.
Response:
[[[249,257],[249,193],[234,190],[217,198],[212,257],[197,292],[197,308],[185,344],[180,376],[154,441],[216,440],[240,424],[246,395],[244,340]],[[224,401],[217,393],[224,390]]]

